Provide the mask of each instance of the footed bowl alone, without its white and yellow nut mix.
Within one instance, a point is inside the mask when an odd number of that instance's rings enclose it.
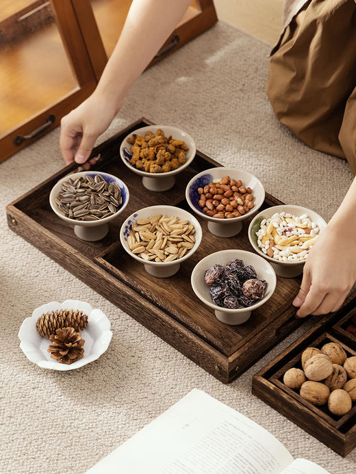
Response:
[[[269,219],[275,213],[284,212],[285,214],[295,215],[300,217],[302,215],[307,215],[312,222],[315,222],[316,226],[319,228],[319,234],[325,229],[327,223],[325,220],[316,212],[307,207],[296,206],[296,205],[281,205],[273,206],[264,209],[258,213],[255,218],[251,221],[249,226],[249,240],[253,249],[264,259],[268,260],[272,267],[275,269],[275,272],[278,276],[283,276],[284,278],[294,278],[295,276],[301,275],[303,273],[303,267],[305,264],[304,261],[279,261],[276,260],[262,251],[262,248],[259,248],[257,244],[257,235],[256,232],[259,231],[260,224],[262,220]]]

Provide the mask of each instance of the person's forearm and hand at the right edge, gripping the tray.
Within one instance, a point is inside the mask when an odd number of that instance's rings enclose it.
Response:
[[[356,281],[356,178],[305,262],[296,316],[336,311]]]

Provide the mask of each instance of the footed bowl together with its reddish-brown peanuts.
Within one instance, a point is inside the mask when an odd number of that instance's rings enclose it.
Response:
[[[264,187],[253,174],[238,168],[211,168],[196,174],[186,187],[192,210],[205,218],[217,237],[233,237],[264,202]]]

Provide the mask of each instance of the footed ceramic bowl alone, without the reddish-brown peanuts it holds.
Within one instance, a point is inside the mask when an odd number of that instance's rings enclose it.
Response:
[[[241,180],[244,187],[251,187],[252,194],[254,195],[253,203],[254,207],[237,218],[231,219],[218,219],[207,215],[203,209],[199,206],[198,202],[200,195],[198,188],[208,185],[214,180],[223,179],[224,176],[230,176],[231,179]],[[249,218],[253,213],[259,209],[264,202],[264,187],[253,174],[240,170],[238,168],[211,168],[209,170],[202,171],[196,174],[188,183],[186,187],[186,200],[192,208],[192,210],[208,221],[207,228],[209,231],[217,237],[233,237],[237,235],[242,229],[242,222]]]

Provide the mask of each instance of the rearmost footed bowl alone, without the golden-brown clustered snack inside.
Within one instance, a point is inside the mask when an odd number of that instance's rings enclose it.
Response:
[[[189,148],[186,152],[186,163],[183,165],[179,166],[177,170],[173,171],[168,171],[166,173],[149,173],[146,171],[138,170],[135,166],[133,166],[130,163],[130,159],[132,157],[132,152],[131,152],[131,144],[127,142],[127,139],[133,135],[133,133],[136,133],[136,135],[144,135],[147,131],[152,131],[155,133],[158,129],[161,129],[164,131],[164,135],[166,137],[169,137],[172,135],[173,139],[175,140],[183,140],[185,142],[186,146]],[[176,127],[170,127],[168,125],[149,125],[148,127],[142,127],[140,129],[137,129],[133,132],[131,132],[120,145],[120,157],[131,171],[133,171],[136,174],[139,174],[142,176],[142,184],[144,187],[149,189],[149,191],[167,191],[171,187],[175,185],[175,175],[180,173],[184,168],[187,168],[187,166],[192,163],[194,157],[196,154],[196,146],[194,143],[194,140],[188,133],[181,129],[177,129]]]

